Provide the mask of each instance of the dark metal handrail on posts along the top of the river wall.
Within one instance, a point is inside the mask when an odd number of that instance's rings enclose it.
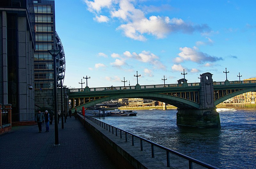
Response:
[[[81,114],[81,113],[79,113],[79,114]],[[197,160],[197,159],[195,159],[195,158],[191,158],[191,157],[186,156],[186,155],[184,155],[184,154],[181,154],[181,153],[179,153],[179,152],[177,152],[177,151],[168,149],[168,148],[166,148],[166,147],[164,147],[164,146],[162,146],[162,145],[159,145],[159,144],[157,144],[157,143],[151,142],[151,141],[149,141],[149,140],[147,140],[147,139],[145,139],[145,138],[142,138],[142,137],[140,137],[140,136],[134,135],[134,134],[132,134],[132,133],[130,133],[130,132],[127,132],[127,131],[125,131],[125,130],[116,128],[116,127],[114,127],[114,126],[112,126],[112,125],[109,125],[109,124],[107,124],[107,123],[105,123],[105,122],[102,122],[102,121],[100,121],[100,120],[98,120],[98,119],[95,119],[95,118],[93,118],[93,117],[91,117],[91,116],[85,115],[85,117],[86,117],[88,120],[90,120],[90,121],[96,123],[97,125],[102,126],[102,128],[103,128],[103,124],[104,124],[104,129],[107,128],[107,130],[108,130],[109,132],[110,132],[110,128],[112,128],[112,134],[114,134],[114,129],[115,129],[115,130],[116,130],[116,132],[115,132],[116,136],[117,136],[117,130],[119,130],[119,131],[120,131],[120,138],[122,138],[122,132],[124,132],[124,133],[125,133],[125,142],[127,142],[127,140],[128,140],[128,139],[127,139],[127,135],[132,136],[132,146],[134,146],[134,137],[140,139],[140,150],[141,150],[141,151],[143,151],[143,141],[144,141],[144,142],[147,142],[147,143],[150,143],[150,144],[151,144],[151,157],[152,157],[152,158],[155,157],[154,146],[163,149],[164,151],[166,151],[167,167],[170,167],[170,155],[169,155],[169,153],[172,153],[172,154],[175,154],[175,155],[177,155],[177,156],[179,156],[179,157],[181,157],[181,158],[184,158],[184,159],[188,160],[189,168],[193,168],[193,163],[196,163],[196,164],[201,165],[201,166],[203,166],[203,167],[205,167],[205,168],[209,168],[209,169],[218,169],[217,167],[214,167],[214,166],[212,166],[212,165],[206,164],[206,163],[204,163],[204,162],[202,162],[202,161],[199,161],[199,160]]]

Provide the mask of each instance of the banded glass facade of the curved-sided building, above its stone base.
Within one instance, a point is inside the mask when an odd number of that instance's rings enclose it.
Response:
[[[53,89],[53,58],[50,49],[60,49],[56,56],[57,74],[65,73],[65,54],[58,34],[55,32],[54,1],[34,2],[36,51],[34,53],[35,90]],[[59,78],[57,78],[60,80]],[[57,84],[60,82],[58,81]]]

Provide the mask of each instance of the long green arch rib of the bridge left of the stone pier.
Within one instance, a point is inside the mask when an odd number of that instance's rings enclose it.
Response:
[[[85,104],[82,104],[80,106],[75,107],[77,110],[82,110],[82,107],[91,107],[93,105],[96,105],[98,103],[109,101],[112,99],[122,99],[122,98],[141,98],[141,99],[151,99],[156,101],[161,101],[167,104],[170,104],[172,106],[178,107],[178,108],[190,108],[190,109],[197,109],[199,108],[199,104],[187,99],[170,96],[166,94],[157,94],[157,93],[127,93],[127,94],[117,94],[117,95],[111,95],[108,97],[104,97],[101,99],[93,100],[90,102],[87,102]]]

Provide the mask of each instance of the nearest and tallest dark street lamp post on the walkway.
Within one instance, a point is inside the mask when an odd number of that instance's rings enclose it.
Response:
[[[59,133],[58,133],[58,110],[57,110],[57,72],[56,72],[56,56],[59,55],[59,49],[51,49],[48,52],[53,57],[53,87],[54,87],[54,133],[55,133],[55,145],[59,145]]]

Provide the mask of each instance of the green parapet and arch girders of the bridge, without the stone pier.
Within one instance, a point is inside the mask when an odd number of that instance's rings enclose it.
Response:
[[[225,82],[214,82],[215,91],[228,91],[235,90],[230,94],[221,96],[214,100],[215,106],[225,101],[226,99],[232,98],[236,95],[256,91],[256,80],[249,81],[225,81]],[[190,108],[198,109],[200,103],[191,101],[189,99],[168,95],[168,93],[175,92],[199,92],[201,89],[200,83],[183,83],[183,84],[168,84],[168,85],[136,85],[127,87],[101,87],[101,88],[84,88],[84,89],[70,89],[69,98],[87,98],[87,97],[98,97],[99,99],[89,101],[82,105],[75,107],[78,111],[82,110],[82,107],[90,107],[95,104],[108,101],[111,99],[121,98],[141,98],[141,99],[152,99],[161,101],[167,104],[171,104],[178,108]]]

